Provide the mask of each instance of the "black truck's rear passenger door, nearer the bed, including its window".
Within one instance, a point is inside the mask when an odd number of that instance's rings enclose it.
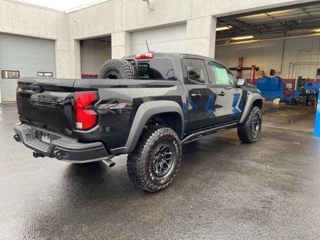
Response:
[[[183,58],[186,71],[184,83],[188,91],[188,130],[211,126],[214,123],[216,92],[207,72],[207,60],[193,56]]]

